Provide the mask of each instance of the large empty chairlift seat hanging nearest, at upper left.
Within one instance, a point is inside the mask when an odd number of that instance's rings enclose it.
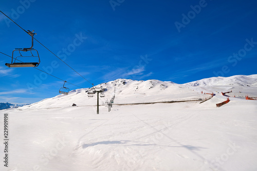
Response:
[[[33,30],[34,31],[34,30]],[[5,65],[9,68],[17,68],[17,67],[38,67],[40,63],[40,57],[39,52],[33,48],[33,36],[36,33],[33,33],[33,31],[28,30],[28,34],[32,37],[32,45],[30,48],[15,48],[15,50],[12,51],[12,61],[11,63],[5,63]],[[14,52],[19,52],[16,55],[14,55]],[[30,52],[29,56],[23,55],[23,52]],[[34,52],[34,53],[32,53]],[[16,54],[16,53],[15,53]],[[27,53],[25,53],[27,54]],[[16,56],[16,57],[15,57]],[[33,58],[39,58],[37,62],[16,62],[17,57],[33,57]]]

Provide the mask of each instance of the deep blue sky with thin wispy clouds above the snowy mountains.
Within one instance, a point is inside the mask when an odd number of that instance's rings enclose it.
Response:
[[[91,83],[118,78],[186,83],[256,74],[256,1],[0,2],[0,9]],[[0,52],[28,48],[31,37],[0,14]],[[91,87],[38,42],[38,67]],[[22,59],[21,59],[22,60]],[[34,68],[8,68],[0,54],[0,102],[32,103],[59,94],[63,81]],[[70,90],[78,87],[65,84]]]

